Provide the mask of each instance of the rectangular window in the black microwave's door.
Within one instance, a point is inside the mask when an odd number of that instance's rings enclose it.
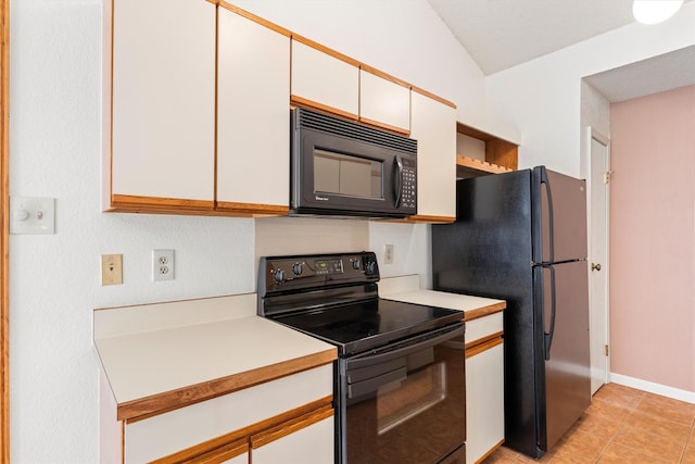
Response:
[[[314,149],[314,192],[383,199],[383,163]]]

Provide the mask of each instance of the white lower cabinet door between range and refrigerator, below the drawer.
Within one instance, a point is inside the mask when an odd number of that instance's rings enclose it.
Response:
[[[504,440],[504,343],[466,359],[466,463]]]

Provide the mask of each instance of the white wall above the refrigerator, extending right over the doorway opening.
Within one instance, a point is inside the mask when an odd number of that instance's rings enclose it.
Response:
[[[662,24],[632,23],[489,76],[491,105],[522,134],[519,167],[580,176],[582,77],[694,45],[694,25],[695,2],[687,2]]]

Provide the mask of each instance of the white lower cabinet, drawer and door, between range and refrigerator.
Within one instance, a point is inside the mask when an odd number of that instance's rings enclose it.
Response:
[[[466,323],[466,464],[504,442],[503,313]]]

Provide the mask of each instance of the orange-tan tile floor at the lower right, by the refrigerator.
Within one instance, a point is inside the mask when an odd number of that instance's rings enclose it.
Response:
[[[538,461],[500,448],[483,464],[695,464],[695,404],[616,384]]]

